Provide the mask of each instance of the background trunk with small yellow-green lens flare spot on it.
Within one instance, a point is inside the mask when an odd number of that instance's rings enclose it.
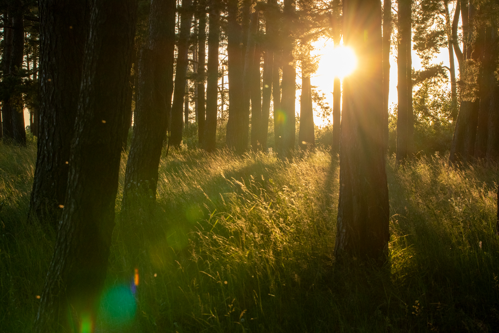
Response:
[[[282,151],[283,157],[289,157],[294,149],[296,130],[296,68],[293,59],[292,24],[294,21],[296,4],[294,0],[284,0],[284,45],[282,51]]]

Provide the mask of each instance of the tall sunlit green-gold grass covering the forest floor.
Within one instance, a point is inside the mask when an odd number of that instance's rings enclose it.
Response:
[[[0,332],[30,332],[52,255],[55,232],[26,221],[35,155],[33,141],[0,142]],[[498,164],[388,156],[382,268],[335,263],[339,169],[320,149],[289,162],[224,150],[162,158],[134,267],[119,218],[125,166],[124,153],[97,332],[499,329]]]

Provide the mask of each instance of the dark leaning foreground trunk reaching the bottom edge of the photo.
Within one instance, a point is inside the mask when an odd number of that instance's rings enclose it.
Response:
[[[136,14],[136,0],[92,3],[66,205],[33,332],[94,328],[114,227],[121,133],[128,123]]]

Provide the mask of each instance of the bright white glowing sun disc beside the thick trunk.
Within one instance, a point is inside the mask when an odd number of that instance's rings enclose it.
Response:
[[[350,75],[357,68],[357,56],[350,47],[324,47],[321,51],[323,53],[320,59],[321,65],[324,65],[328,71],[328,73],[323,74],[343,78]]]

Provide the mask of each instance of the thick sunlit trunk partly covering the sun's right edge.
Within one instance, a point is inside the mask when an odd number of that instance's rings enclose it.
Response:
[[[358,67],[343,79],[335,256],[386,260],[388,186],[383,128],[380,0],[343,0],[343,40]],[[366,38],[367,36],[367,38]]]

